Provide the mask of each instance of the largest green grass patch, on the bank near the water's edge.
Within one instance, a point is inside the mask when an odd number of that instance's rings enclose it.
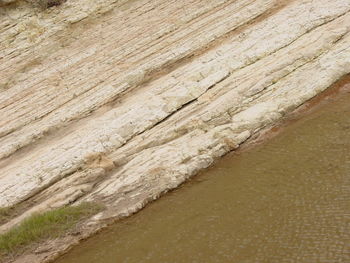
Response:
[[[34,214],[20,225],[0,235],[0,255],[15,253],[35,242],[55,238],[72,229],[80,220],[102,210],[96,204],[83,203]]]

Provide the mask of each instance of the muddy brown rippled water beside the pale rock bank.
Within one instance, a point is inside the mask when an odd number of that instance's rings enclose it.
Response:
[[[117,262],[350,262],[350,94],[57,261]]]

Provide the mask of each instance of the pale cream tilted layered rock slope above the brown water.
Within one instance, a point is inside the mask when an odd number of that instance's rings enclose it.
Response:
[[[25,207],[0,232],[34,212],[107,207],[38,261],[350,73],[349,0],[32,2],[0,1],[0,207]]]

